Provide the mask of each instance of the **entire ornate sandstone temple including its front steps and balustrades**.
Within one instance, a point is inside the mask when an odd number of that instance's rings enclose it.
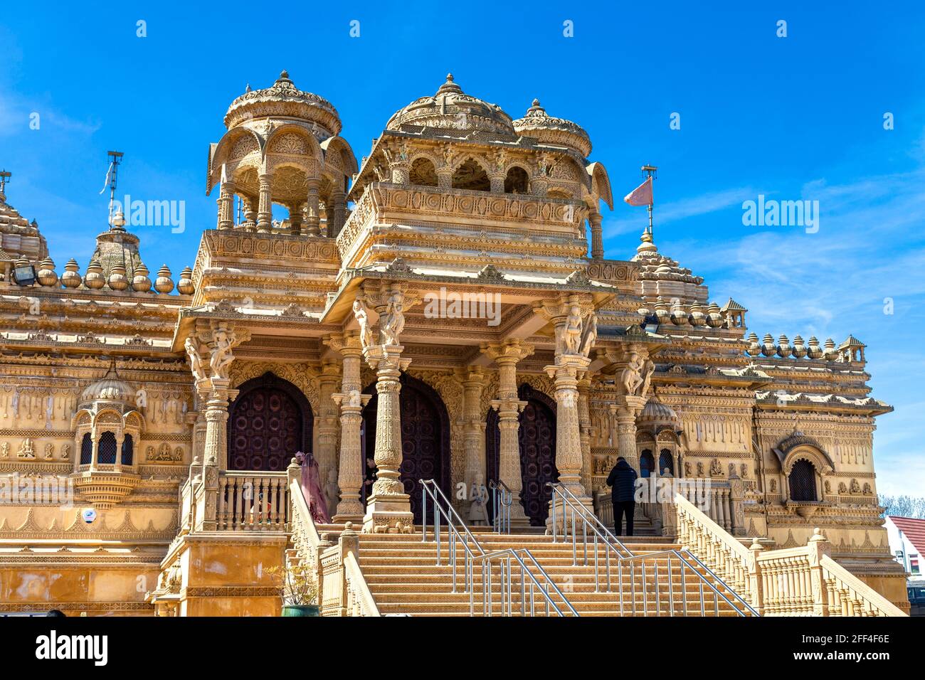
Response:
[[[907,612],[864,343],[759,336],[648,229],[605,256],[590,136],[524,108],[450,75],[358,162],[249,87],[176,278],[121,214],[56,269],[0,187],[0,611],[278,615],[288,568],[324,615]]]

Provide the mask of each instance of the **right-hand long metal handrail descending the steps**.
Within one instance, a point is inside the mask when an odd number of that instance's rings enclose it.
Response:
[[[547,482],[547,486],[552,490],[552,503],[551,503],[551,516],[552,516],[552,525],[550,527],[552,533],[552,541],[555,543],[558,540],[558,513],[557,506],[559,505],[558,500],[561,501],[561,521],[562,521],[562,536],[567,537],[569,531],[569,519],[571,519],[571,533],[572,533],[572,563],[578,563],[578,531],[576,528],[576,520],[581,521],[582,525],[582,550],[583,550],[583,560],[587,565],[588,563],[588,532],[590,531],[591,537],[594,538],[593,543],[593,558],[594,558],[594,587],[595,592],[600,592],[600,558],[598,556],[598,546],[602,545],[604,547],[604,563],[606,567],[607,574],[607,591],[612,592],[612,580],[611,580],[611,552],[615,553],[615,567],[617,571],[617,581],[620,585],[620,613],[623,614],[624,602],[623,602],[623,572],[624,568],[628,568],[630,575],[630,587],[632,595],[632,611],[635,614],[636,603],[635,603],[635,564],[642,563],[642,596],[643,596],[643,613],[648,615],[648,582],[646,580],[646,561],[648,560],[657,560],[660,556],[669,555],[668,557],[668,589],[669,589],[669,599],[671,600],[671,615],[674,615],[673,607],[673,580],[672,580],[672,555],[675,556],[679,563],[681,563],[681,592],[683,594],[683,603],[684,603],[684,612],[687,614],[687,595],[685,589],[685,567],[690,571],[697,574],[697,577],[700,579],[700,613],[705,615],[705,600],[703,588],[706,585],[709,590],[713,592],[714,600],[714,612],[719,613],[719,598],[725,600],[729,605],[734,609],[736,613],[740,616],[745,616],[746,613],[751,613],[754,616],[758,616],[759,613],[756,612],[751,605],[749,605],[746,600],[744,600],[738,593],[734,591],[733,588],[729,587],[718,575],[714,574],[709,567],[702,563],[696,555],[694,555],[690,550],[661,550],[659,552],[648,553],[646,555],[636,555],[632,550],[627,548],[623,542],[613,535],[611,530],[604,525],[599,519],[598,516],[594,513],[590,513],[587,508],[582,505],[575,495],[568,488],[564,487],[560,482]],[[566,517],[566,511],[569,511],[570,517]],[[734,595],[735,600],[738,600],[745,608],[746,612],[743,612],[739,607],[737,607],[734,602],[726,598],[725,595],[720,592],[720,589],[716,587],[714,583],[710,583],[709,580],[702,575],[691,563],[685,560],[685,553],[687,556],[692,558],[698,566],[707,571],[707,573],[715,580],[715,583],[721,584],[722,587],[728,592]],[[659,564],[655,563],[654,577],[655,577],[655,597],[656,597],[656,608],[657,611],[660,608],[660,587],[659,587]]]

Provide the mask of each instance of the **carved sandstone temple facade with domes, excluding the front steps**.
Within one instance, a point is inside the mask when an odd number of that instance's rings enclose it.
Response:
[[[632,257],[606,259],[611,188],[578,125],[538,102],[512,119],[450,76],[391,117],[358,165],[334,106],[285,72],[234,100],[225,124],[206,168],[216,229],[176,294],[166,267],[148,278],[119,219],[84,275],[71,261],[59,278],[0,192],[4,252],[40,270],[33,287],[9,266],[0,283],[0,476],[74,494],[0,504],[0,592],[20,593],[0,609],[208,613],[226,598],[225,612],[278,611],[263,577],[215,583],[180,566],[272,560],[286,545],[287,461],[228,462],[239,392],[265,376],[286,389],[249,398],[265,402],[246,415],[248,440],[282,433],[275,451],[312,454],[331,530],[410,530],[408,463],[432,470],[463,516],[481,477],[512,490],[514,525],[534,521],[519,502],[536,482],[524,447],[545,437],[555,476],[588,508],[623,456],[744,497],[725,517],[739,536],[805,545],[822,526],[836,558],[888,575],[872,435],[892,409],[869,395],[864,345],[746,337],[747,310],[709,302],[648,233]],[[274,204],[289,216],[274,221]],[[554,432],[524,425],[534,407]],[[54,586],[91,567],[120,585]],[[150,585],[129,583],[130,569]]]

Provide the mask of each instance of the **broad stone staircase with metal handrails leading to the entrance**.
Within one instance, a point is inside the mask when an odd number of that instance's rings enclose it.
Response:
[[[482,549],[486,552],[503,549],[528,549],[549,575],[549,578],[561,589],[562,594],[571,602],[580,616],[681,616],[700,614],[700,587],[698,579],[687,569],[685,573],[685,598],[681,597],[681,565],[672,556],[672,574],[674,581],[671,590],[667,583],[669,556],[653,558],[646,562],[646,575],[643,578],[641,564],[634,568],[634,578],[630,573],[623,575],[623,612],[621,612],[621,595],[618,585],[617,569],[611,563],[612,587],[607,592],[604,566],[604,553],[600,551],[599,575],[600,591],[595,588],[595,567],[589,550],[588,563],[584,563],[584,551],[579,547],[577,564],[573,563],[573,545],[553,542],[552,537],[536,534],[495,534],[487,530],[473,531]],[[656,537],[636,537],[627,539],[629,547],[636,555],[647,555],[663,550],[677,549],[678,546],[667,539]],[[452,592],[452,570],[449,565],[450,545],[444,534],[440,545],[441,563],[437,564],[437,544],[433,534],[428,533],[428,540],[422,542],[420,531],[411,535],[400,534],[364,534],[359,537],[358,562],[363,571],[366,584],[376,601],[376,607],[382,615],[412,616],[468,616],[470,598],[475,603],[475,615],[483,615],[483,583],[481,573],[474,578],[473,593],[464,592],[462,543],[457,543],[457,592]],[[658,596],[655,587],[659,572]],[[531,567],[531,573],[538,570]],[[707,575],[705,570],[697,571]],[[512,588],[511,612],[521,614],[521,585],[518,569],[514,570],[514,587]],[[502,615],[500,598],[500,565],[492,566],[492,615]],[[542,579],[540,579],[542,580]],[[646,587],[643,587],[643,581]],[[529,579],[527,579],[526,612],[529,614]],[[635,587],[634,584],[635,583]],[[721,592],[730,597],[727,588],[721,586]],[[735,609],[722,598],[714,596],[705,588],[706,613],[708,615],[737,616]],[[555,594],[551,598],[566,615],[571,615],[565,603]],[[633,603],[635,601],[635,611]],[[546,612],[545,600],[536,593],[534,600],[536,613]],[[551,609],[549,612],[555,615]]]

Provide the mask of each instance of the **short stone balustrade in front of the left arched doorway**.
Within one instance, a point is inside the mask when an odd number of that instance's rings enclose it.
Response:
[[[224,472],[218,477],[218,531],[286,531],[285,472]]]

